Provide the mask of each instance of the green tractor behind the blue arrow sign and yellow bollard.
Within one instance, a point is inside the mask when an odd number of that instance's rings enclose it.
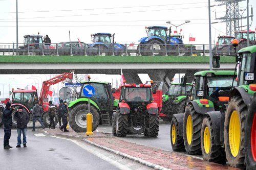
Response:
[[[91,85],[95,89],[94,95],[90,98],[90,112],[92,118],[92,130],[99,124],[110,124],[113,114],[114,98],[111,84],[108,82],[82,81],[78,98],[69,104],[69,125],[75,132],[87,131],[87,113],[89,99],[83,94],[82,89]]]

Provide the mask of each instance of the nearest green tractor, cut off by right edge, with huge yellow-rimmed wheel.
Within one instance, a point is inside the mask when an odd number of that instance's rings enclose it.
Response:
[[[232,167],[256,169],[255,58],[256,45],[238,52],[238,87],[230,92],[225,114],[205,114],[201,131],[201,148],[205,160],[220,162],[219,157],[226,155]]]

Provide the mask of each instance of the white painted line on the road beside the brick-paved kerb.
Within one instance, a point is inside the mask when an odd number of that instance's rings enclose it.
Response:
[[[56,138],[59,138],[59,139],[66,139],[66,138],[61,138],[61,137],[57,137],[57,136],[51,136],[51,137],[56,137]],[[131,168],[126,167],[125,165],[123,165],[123,164],[121,164],[121,163],[119,163],[119,162],[117,162],[117,161],[115,161],[113,159],[110,159],[109,157],[106,157],[105,155],[102,155],[102,154],[96,152],[95,150],[93,150],[93,149],[91,149],[89,147],[84,146],[83,144],[81,144],[80,142],[78,142],[76,140],[72,140],[72,139],[66,139],[66,140],[74,142],[75,144],[77,144],[82,149],[84,149],[84,150],[94,154],[95,156],[97,156],[97,157],[99,157],[99,158],[101,158],[101,159],[111,163],[112,165],[114,165],[114,166],[116,166],[116,167],[118,167],[118,168],[120,168],[122,170],[132,170]]]

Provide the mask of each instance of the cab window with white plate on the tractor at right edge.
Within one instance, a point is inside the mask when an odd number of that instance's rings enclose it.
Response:
[[[255,75],[255,54],[256,53],[244,53],[242,56],[242,64],[239,75],[239,86],[244,84],[256,83]],[[250,74],[250,76],[249,76]]]

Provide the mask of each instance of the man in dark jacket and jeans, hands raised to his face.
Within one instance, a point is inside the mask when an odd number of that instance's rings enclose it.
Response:
[[[18,143],[16,148],[20,148],[20,144],[23,143],[23,147],[27,147],[27,124],[29,123],[29,114],[23,110],[23,106],[19,106],[14,116],[17,117],[17,133]],[[20,136],[23,135],[23,142]]]

